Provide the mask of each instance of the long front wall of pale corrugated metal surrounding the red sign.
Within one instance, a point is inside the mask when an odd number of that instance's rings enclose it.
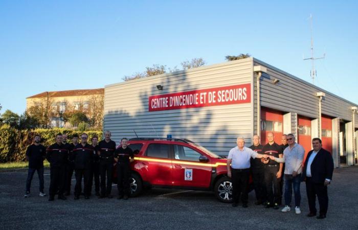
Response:
[[[209,150],[227,155],[238,136],[248,145],[253,135],[253,102],[200,108],[148,111],[150,96],[220,86],[252,84],[252,58],[193,68],[105,86],[104,130],[112,139],[166,137],[190,139]],[[158,90],[156,85],[163,85]],[[252,88],[251,88],[252,91]],[[253,100],[253,94],[251,94]]]

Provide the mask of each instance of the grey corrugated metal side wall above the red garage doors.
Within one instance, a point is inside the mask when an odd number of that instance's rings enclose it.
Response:
[[[254,65],[267,67],[267,74],[262,74],[260,81],[261,106],[283,112],[296,112],[309,118],[318,118],[316,93],[322,91],[326,94],[322,100],[322,114],[352,121],[350,107],[357,106],[354,103],[255,58]],[[280,82],[273,84],[273,79],[279,79]],[[358,122],[355,123],[358,127]]]

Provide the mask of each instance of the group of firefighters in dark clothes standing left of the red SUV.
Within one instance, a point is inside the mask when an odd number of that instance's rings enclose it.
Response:
[[[117,166],[118,199],[128,199],[130,194],[129,164],[134,160],[134,155],[127,145],[128,140],[126,138],[121,140],[120,147],[116,149],[116,143],[110,137],[110,131],[105,131],[104,140],[98,142],[98,136],[93,136],[91,144],[88,144],[86,133],[82,133],[80,136],[74,134],[72,144],[70,144],[67,140],[67,134],[58,133],[55,144],[46,148],[40,144],[41,136],[35,135],[33,144],[26,151],[29,171],[24,197],[30,196],[31,181],[36,171],[40,184],[39,196],[46,196],[43,186],[43,160],[46,158],[50,163],[49,201],[53,201],[56,194],[58,199],[62,200],[71,195],[73,172],[75,172],[76,177],[75,200],[79,199],[80,195],[89,199],[93,181],[95,181],[96,196],[113,198],[111,188],[114,165]]]

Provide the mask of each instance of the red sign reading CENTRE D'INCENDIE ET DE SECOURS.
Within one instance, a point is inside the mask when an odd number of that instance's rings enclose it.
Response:
[[[231,85],[149,97],[149,111],[251,102],[251,85]]]

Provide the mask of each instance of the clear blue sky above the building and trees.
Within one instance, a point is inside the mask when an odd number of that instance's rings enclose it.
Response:
[[[253,57],[358,104],[356,1],[1,1],[0,103],[23,113],[43,91],[98,88],[145,66]]]

